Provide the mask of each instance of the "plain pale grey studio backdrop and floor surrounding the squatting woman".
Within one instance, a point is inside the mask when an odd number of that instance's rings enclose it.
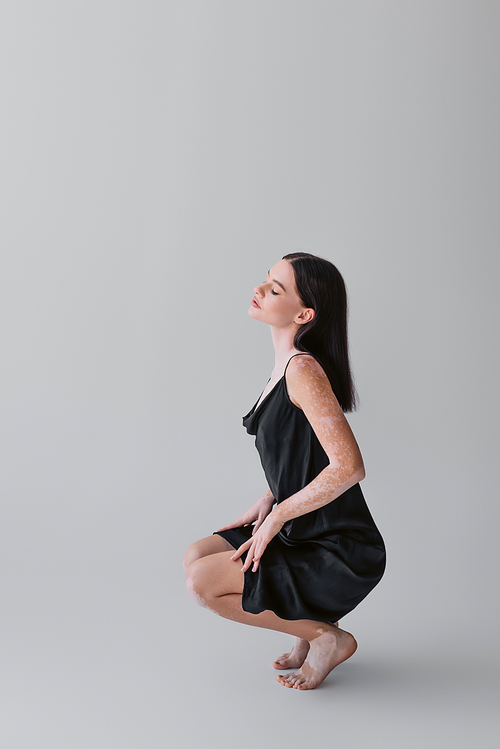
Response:
[[[2,3],[2,746],[494,745],[499,16]],[[388,547],[309,693],[181,570],[266,488],[247,308],[296,250],[348,285]]]

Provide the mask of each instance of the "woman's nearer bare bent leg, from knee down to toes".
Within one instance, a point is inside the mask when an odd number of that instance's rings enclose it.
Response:
[[[244,577],[241,562],[231,562],[233,551],[211,554],[188,566],[187,587],[200,605],[232,621],[285,632],[306,640],[309,652],[302,668],[288,676],[278,675],[283,686],[313,689],[356,650],[354,637],[325,622],[280,619],[272,611],[250,614],[241,605]]]

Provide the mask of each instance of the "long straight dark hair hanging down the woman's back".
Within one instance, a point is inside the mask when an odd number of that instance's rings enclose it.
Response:
[[[355,411],[358,398],[349,361],[344,279],[329,260],[307,252],[292,252],[283,260],[293,266],[301,303],[316,313],[310,322],[299,327],[293,345],[317,356],[342,410]]]

